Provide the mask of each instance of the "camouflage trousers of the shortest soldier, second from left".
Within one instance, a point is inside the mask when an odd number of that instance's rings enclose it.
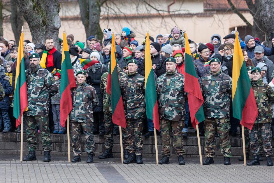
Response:
[[[93,141],[93,123],[79,123],[79,122],[70,122],[71,129],[71,145],[72,151],[75,156],[81,155],[81,145],[80,145],[80,135],[81,128],[83,129],[85,136],[85,151],[87,154],[94,155],[94,141]]]

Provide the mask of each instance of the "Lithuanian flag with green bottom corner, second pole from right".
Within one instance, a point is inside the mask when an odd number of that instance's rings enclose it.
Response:
[[[205,113],[203,111],[203,95],[200,89],[200,84],[194,68],[185,32],[185,91],[188,93],[188,104],[191,123],[194,128],[196,125],[205,120]]]

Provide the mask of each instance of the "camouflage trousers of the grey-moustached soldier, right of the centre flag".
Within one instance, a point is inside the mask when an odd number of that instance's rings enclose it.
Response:
[[[162,155],[170,155],[171,133],[173,133],[173,147],[176,154],[184,155],[184,142],[182,138],[182,130],[185,126],[184,121],[172,121],[168,119],[161,119],[160,129],[162,134]]]

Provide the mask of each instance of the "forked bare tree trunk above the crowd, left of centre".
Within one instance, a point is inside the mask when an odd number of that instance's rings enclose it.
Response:
[[[80,15],[85,27],[86,38],[93,35],[99,40],[103,38],[100,27],[101,4],[99,0],[79,0]]]

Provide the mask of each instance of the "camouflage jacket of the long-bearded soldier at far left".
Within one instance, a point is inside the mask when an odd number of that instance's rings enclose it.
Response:
[[[58,93],[52,74],[39,65],[35,73],[26,70],[28,111],[27,116],[48,116],[50,97]]]

